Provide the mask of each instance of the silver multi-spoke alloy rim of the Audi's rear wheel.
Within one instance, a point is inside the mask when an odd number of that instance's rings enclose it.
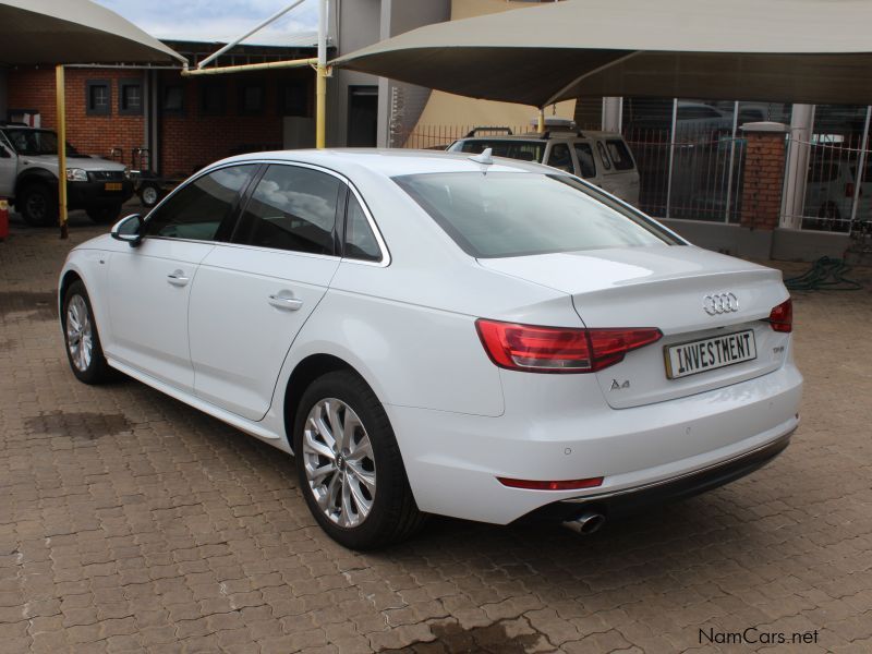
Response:
[[[316,402],[306,417],[302,456],[324,514],[343,528],[366,520],[376,493],[375,455],[354,410],[336,398]]]

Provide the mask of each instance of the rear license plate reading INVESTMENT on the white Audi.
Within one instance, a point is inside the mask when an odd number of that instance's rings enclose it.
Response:
[[[754,330],[702,338],[664,348],[666,376],[678,379],[756,359]]]

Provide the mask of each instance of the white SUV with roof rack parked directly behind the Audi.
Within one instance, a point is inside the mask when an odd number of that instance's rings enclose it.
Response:
[[[614,132],[549,130],[542,134],[476,136],[477,129],[448,146],[449,153],[535,161],[576,174],[631,205],[639,204],[639,171],[623,136]]]

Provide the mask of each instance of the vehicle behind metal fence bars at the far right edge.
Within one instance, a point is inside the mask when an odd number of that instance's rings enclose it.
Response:
[[[806,182],[807,216],[816,216],[809,227],[849,231],[853,196],[857,191],[857,161],[812,157]],[[865,161],[860,182],[856,220],[872,220],[872,159]]]

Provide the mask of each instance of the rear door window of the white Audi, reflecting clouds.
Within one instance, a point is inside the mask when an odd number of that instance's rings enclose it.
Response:
[[[254,190],[234,241],[262,247],[334,254],[342,183],[310,168],[270,166]]]

